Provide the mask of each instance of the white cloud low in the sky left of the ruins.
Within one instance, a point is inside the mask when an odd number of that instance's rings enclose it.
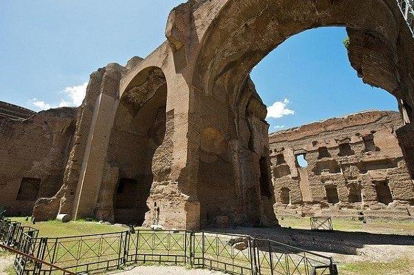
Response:
[[[29,102],[36,106],[39,111],[58,107],[77,107],[82,104],[83,98],[85,98],[86,86],[88,86],[88,82],[79,86],[69,86],[64,88],[63,91],[61,91],[63,98],[60,100],[59,104],[51,104],[38,100],[37,98],[31,99]]]

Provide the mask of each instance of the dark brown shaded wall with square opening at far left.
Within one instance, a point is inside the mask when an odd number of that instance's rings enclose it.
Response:
[[[8,215],[30,215],[37,198],[60,189],[75,132],[76,108],[35,113],[2,104],[0,205]]]

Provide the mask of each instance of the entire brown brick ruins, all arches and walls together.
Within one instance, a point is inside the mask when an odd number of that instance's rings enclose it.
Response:
[[[400,114],[328,120],[269,143],[250,70],[322,26],[346,27],[355,74],[395,96]],[[79,108],[0,104],[0,204],[37,220],[166,229],[277,225],[275,209],[411,211],[413,53],[395,0],[190,0],[170,12],[166,41],[148,57],[93,72]]]

